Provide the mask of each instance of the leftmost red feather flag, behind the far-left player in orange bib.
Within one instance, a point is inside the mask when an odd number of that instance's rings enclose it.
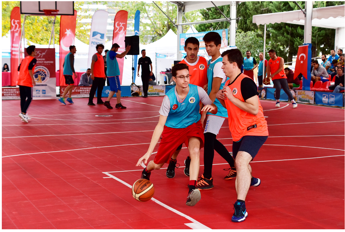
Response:
[[[19,56],[19,41],[20,41],[20,9],[14,7],[11,11],[11,86],[17,85],[18,79],[18,56]],[[20,61],[22,58],[20,59]]]

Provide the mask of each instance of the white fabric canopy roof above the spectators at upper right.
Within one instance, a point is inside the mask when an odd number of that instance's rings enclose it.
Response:
[[[312,26],[323,28],[345,27],[345,5],[313,8]],[[253,16],[253,23],[257,25],[268,23],[292,23],[304,25],[304,13],[302,10],[277,12],[270,14],[258,14]]]

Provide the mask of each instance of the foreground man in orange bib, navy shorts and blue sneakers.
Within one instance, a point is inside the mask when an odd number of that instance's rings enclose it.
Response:
[[[248,216],[245,199],[250,186],[260,185],[252,176],[249,163],[267,140],[268,129],[255,82],[241,73],[243,57],[238,49],[221,54],[225,75],[230,78],[216,98],[227,109],[228,122],[233,137],[233,157],[237,170],[235,181],[237,201],[234,204],[233,222],[242,222]]]

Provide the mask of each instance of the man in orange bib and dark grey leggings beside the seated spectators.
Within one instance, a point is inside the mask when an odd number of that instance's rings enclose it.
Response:
[[[272,78],[274,87],[276,88],[276,107],[280,107],[279,98],[280,90],[283,88],[284,92],[287,94],[289,101],[292,103],[292,108],[297,107],[297,103],[289,90],[289,85],[287,83],[287,77],[284,72],[284,59],[277,57],[276,51],[271,49],[268,51],[268,56],[271,58],[267,65],[267,77]]]

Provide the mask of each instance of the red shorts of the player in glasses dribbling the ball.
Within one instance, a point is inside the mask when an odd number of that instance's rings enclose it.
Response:
[[[185,143],[188,148],[188,140],[191,137],[200,138],[200,149],[204,147],[204,129],[200,121],[186,128],[171,128],[164,126],[162,139],[160,140],[155,164],[169,163],[170,158],[177,147]]]

